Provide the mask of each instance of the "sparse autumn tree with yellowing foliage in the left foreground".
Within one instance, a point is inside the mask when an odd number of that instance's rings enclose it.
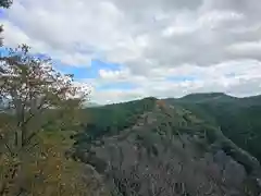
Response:
[[[28,49],[0,59],[0,196],[88,195],[83,166],[64,157],[88,90]]]

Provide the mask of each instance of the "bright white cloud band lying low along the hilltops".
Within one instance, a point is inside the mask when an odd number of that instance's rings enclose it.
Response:
[[[244,97],[261,94],[261,63],[257,60],[227,61],[213,66],[182,65],[156,69],[149,76],[101,71],[103,77],[86,81],[95,87],[92,100],[101,103],[141,97],[181,97],[189,93],[224,91]],[[123,74],[124,75],[124,74]],[[190,78],[194,76],[192,78]],[[166,79],[167,77],[171,77]],[[133,88],[100,89],[103,85],[132,84]]]

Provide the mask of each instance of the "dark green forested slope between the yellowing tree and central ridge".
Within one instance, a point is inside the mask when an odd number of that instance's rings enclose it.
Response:
[[[146,98],[140,101],[108,105],[103,107],[87,108],[84,110],[88,120],[83,123],[89,142],[103,135],[114,135],[124,128],[133,126],[138,117],[154,107],[156,98]]]

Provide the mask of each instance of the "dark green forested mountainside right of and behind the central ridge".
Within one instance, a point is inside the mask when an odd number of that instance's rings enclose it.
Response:
[[[261,160],[261,96],[236,98],[225,94],[195,94],[165,101],[220,126],[235,144]]]

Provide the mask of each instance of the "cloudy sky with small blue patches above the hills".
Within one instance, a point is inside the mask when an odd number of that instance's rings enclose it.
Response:
[[[15,0],[4,45],[27,44],[90,101],[261,94],[260,0]]]

